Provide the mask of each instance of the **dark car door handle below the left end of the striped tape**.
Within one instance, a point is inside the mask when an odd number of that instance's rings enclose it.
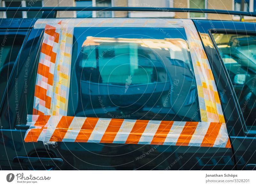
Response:
[[[20,163],[27,166],[60,166],[63,163],[61,158],[36,158],[17,156],[13,158],[14,163]]]

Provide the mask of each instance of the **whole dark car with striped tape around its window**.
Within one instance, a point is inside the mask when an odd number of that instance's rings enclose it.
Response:
[[[255,23],[61,10],[1,19],[2,170],[255,169]]]

